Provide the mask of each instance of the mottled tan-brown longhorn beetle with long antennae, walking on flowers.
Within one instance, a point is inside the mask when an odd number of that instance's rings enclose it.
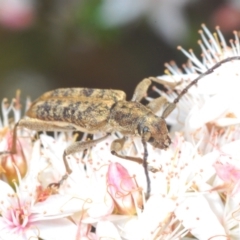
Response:
[[[176,104],[187,93],[188,89],[196,84],[201,78],[212,73],[221,64],[240,60],[240,56],[229,57],[218,62],[205,73],[199,75],[187,85],[175,98],[168,103],[161,117],[155,113],[163,106],[165,99],[159,97],[144,106],[140,103],[145,96],[151,81],[158,81],[154,77],[141,81],[133,94],[131,101],[126,101],[126,94],[120,90],[90,89],[90,88],[63,88],[44,93],[30,106],[26,115],[28,118],[21,119],[13,129],[13,147],[10,152],[16,152],[17,127],[25,127],[36,131],[82,131],[95,133],[102,131],[106,136],[85,142],[75,142],[64,150],[63,161],[66,174],[58,183],[50,184],[57,186],[67,179],[72,172],[66,156],[91,148],[100,141],[106,139],[113,132],[121,132],[126,135],[138,135],[141,137],[144,147],[143,159],[123,156],[118,152],[122,150],[125,137],[114,140],[111,144],[111,153],[117,157],[142,163],[147,179],[146,198],[150,194],[150,179],[147,166],[147,142],[156,148],[167,149],[171,144],[165,118],[175,109]]]

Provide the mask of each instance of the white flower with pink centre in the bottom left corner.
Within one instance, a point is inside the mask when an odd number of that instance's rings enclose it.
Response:
[[[21,179],[18,173],[18,177],[15,191],[0,180],[0,238],[74,239],[77,227],[66,218],[79,209],[72,196],[51,195],[32,174]]]

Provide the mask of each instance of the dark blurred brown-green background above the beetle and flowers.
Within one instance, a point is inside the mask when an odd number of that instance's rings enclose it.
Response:
[[[240,0],[0,0],[0,97],[59,87],[122,89],[131,98],[164,63],[186,58],[198,30],[240,29]]]

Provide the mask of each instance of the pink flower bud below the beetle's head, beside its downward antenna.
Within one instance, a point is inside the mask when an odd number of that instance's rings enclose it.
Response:
[[[120,163],[111,163],[107,173],[108,192],[115,203],[115,213],[133,215],[142,208],[142,193],[134,177]]]

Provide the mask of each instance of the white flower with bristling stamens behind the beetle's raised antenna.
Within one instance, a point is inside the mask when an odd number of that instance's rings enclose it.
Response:
[[[191,80],[196,79],[199,74],[206,72],[219,61],[240,56],[237,32],[234,32],[235,39],[231,40],[228,46],[219,28],[216,28],[217,34],[212,35],[205,25],[202,27],[204,32],[200,31],[202,41],[199,41],[203,52],[202,61],[194,55],[192,50],[187,52],[179,47],[189,58],[189,62],[184,65],[186,73],[171,63],[166,64],[168,75],[159,77],[159,82],[164,83],[169,93],[156,88],[155,90],[170,102],[177,97],[171,86],[175,86],[174,90],[180,93]],[[239,60],[229,61],[200,79],[196,86],[192,86],[177,104],[174,112],[166,119],[172,126],[171,130],[173,132],[183,131],[188,140],[195,139],[197,142],[201,137],[205,137],[203,141],[207,141],[213,134],[211,132],[213,126],[224,127],[239,124],[239,69]]]

